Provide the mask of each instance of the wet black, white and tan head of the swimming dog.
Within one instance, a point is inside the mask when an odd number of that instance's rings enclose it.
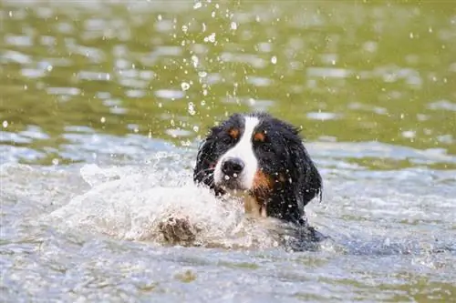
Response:
[[[263,216],[288,220],[321,189],[296,128],[266,114],[235,114],[212,127],[193,176],[218,194],[244,194]]]

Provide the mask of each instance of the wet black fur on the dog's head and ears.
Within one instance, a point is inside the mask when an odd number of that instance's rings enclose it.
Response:
[[[322,179],[299,136],[299,130],[285,121],[265,113],[234,114],[220,126],[211,128],[198,150],[193,179],[212,188],[216,195],[223,190],[214,186],[213,170],[219,157],[236,144],[228,134],[231,127],[244,131],[243,116],[260,120],[257,131],[266,131],[264,142],[254,143],[254,153],[263,172],[272,177],[274,187],[269,192],[252,192],[265,202],[267,216],[292,223],[305,224],[304,207],[314,197],[321,198]]]

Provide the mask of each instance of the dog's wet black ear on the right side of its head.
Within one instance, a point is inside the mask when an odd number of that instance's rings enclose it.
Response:
[[[321,200],[322,179],[299,136],[289,142],[288,146],[290,167],[293,167],[290,171],[292,186],[295,187],[299,208],[304,208],[318,195]]]

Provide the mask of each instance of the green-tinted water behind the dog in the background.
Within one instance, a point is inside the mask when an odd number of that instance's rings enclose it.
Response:
[[[180,144],[253,109],[302,126],[309,140],[456,154],[451,2],[1,8],[0,119],[9,132],[47,134],[22,144],[44,151],[39,163],[72,144],[68,126]]]

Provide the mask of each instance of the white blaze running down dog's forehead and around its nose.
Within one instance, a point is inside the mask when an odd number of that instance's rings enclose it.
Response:
[[[244,170],[238,176],[240,187],[250,189],[254,185],[254,177],[258,169],[258,160],[254,155],[254,146],[252,145],[252,137],[254,130],[260,123],[260,120],[255,116],[244,116],[244,133],[231,149],[229,149],[222,157],[220,157],[214,171],[214,181],[216,184],[223,182],[222,163],[223,160],[229,157],[237,157],[244,162]]]

